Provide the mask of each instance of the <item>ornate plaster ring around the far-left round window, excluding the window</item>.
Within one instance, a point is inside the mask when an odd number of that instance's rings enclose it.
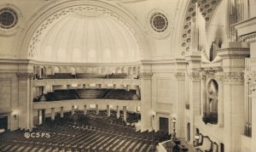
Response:
[[[3,37],[9,37],[9,36],[12,36],[14,35],[17,31],[23,31],[24,28],[22,28],[20,26],[20,22],[21,20],[23,19],[23,14],[21,13],[20,9],[17,8],[14,4],[11,4],[11,3],[2,3],[0,4],[0,9],[2,8],[11,8],[13,10],[15,10],[15,13],[17,14],[17,23],[14,27],[10,28],[10,29],[3,29],[3,28],[0,28],[0,36],[3,36]]]

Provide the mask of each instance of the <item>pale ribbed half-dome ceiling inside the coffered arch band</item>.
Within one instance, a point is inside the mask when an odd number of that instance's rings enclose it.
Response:
[[[73,12],[50,25],[34,59],[48,62],[125,63],[141,56],[136,38],[120,21],[103,13]]]

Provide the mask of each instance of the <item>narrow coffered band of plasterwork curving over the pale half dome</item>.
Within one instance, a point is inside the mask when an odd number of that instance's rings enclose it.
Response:
[[[68,14],[79,14],[80,17],[83,15],[89,15],[89,16],[98,16],[100,14],[107,15],[112,17],[113,19],[119,21],[124,25],[131,34],[136,38],[138,42],[138,47],[140,50],[142,50],[142,46],[139,43],[139,38],[137,37],[137,32],[134,30],[134,28],[129,25],[119,14],[115,14],[113,11],[107,9],[107,8],[100,8],[96,6],[73,6],[69,8],[61,9],[60,11],[56,12],[55,14],[52,14],[49,16],[47,20],[44,20],[44,22],[38,27],[37,31],[34,32],[34,35],[32,36],[32,40],[29,45],[29,51],[28,51],[28,57],[33,58],[37,55],[35,52],[38,42],[41,41],[41,36],[43,35],[44,31],[49,28],[49,25],[52,25],[58,20],[61,20],[61,18],[65,17]],[[77,15],[78,16],[78,15]]]

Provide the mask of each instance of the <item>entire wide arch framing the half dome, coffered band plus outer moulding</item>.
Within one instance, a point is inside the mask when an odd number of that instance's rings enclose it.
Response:
[[[139,45],[140,59],[150,58],[151,51],[148,48],[148,40],[144,36],[140,25],[137,25],[134,16],[126,11],[125,8],[115,5],[117,4],[93,0],[63,0],[49,3],[44,8],[41,8],[37,14],[32,15],[30,22],[27,23],[26,26],[28,28],[25,30],[20,43],[20,59],[34,59],[33,57],[37,54],[34,48],[37,47],[40,41],[39,37],[44,32],[44,29],[48,25],[54,24],[55,20],[60,18],[61,15],[67,15],[70,11],[79,9],[79,7],[89,7],[89,10],[90,8],[95,8],[96,11],[103,11],[119,20],[135,37],[135,41]]]

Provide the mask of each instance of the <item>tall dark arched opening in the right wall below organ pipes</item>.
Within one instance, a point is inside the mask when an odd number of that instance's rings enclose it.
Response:
[[[218,82],[213,79],[207,85],[207,100],[204,104],[203,121],[206,124],[218,123]]]

